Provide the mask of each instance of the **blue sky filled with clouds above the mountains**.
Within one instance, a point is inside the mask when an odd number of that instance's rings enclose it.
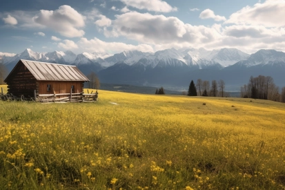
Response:
[[[285,52],[285,0],[1,0],[0,53]]]

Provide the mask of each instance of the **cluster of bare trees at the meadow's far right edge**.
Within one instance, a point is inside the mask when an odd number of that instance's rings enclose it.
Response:
[[[282,88],[281,94],[279,87],[275,85],[273,78],[270,76],[259,75],[251,76],[248,84],[240,88],[241,97],[250,97],[254,99],[268,99],[275,102],[285,102],[285,87]]]

